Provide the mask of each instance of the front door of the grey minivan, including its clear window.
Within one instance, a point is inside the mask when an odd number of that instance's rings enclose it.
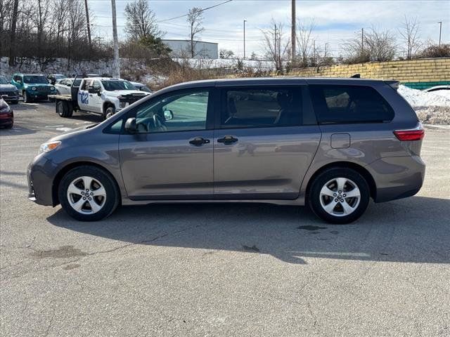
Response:
[[[120,165],[131,200],[212,199],[212,93],[173,91],[130,112],[137,133],[120,136]]]

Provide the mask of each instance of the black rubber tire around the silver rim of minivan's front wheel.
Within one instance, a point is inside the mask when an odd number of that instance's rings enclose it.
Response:
[[[94,180],[98,180],[105,189],[106,197],[104,204],[96,213],[79,213],[70,205],[68,187],[74,180],[82,176],[89,176],[94,178]],[[58,186],[58,197],[63,209],[72,218],[80,221],[97,221],[106,218],[120,204],[120,192],[114,178],[108,172],[103,171],[103,169],[98,169],[95,166],[79,166],[66,173]],[[88,203],[88,201],[86,200],[85,203]]]

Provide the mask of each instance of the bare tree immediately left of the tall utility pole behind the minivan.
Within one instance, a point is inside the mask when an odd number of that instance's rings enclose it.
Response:
[[[276,22],[274,18],[271,20],[271,27],[263,29],[264,35],[264,52],[266,58],[275,62],[275,69],[278,72],[283,71],[283,63],[289,58],[290,39],[285,39],[283,32],[283,24]]]

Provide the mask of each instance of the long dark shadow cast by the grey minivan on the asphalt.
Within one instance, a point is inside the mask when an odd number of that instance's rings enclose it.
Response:
[[[269,254],[287,263],[314,258],[449,263],[450,199],[371,203],[355,223],[323,223],[307,207],[267,204],[123,206],[97,223],[61,209],[49,222],[98,237],[155,246]],[[214,252],[213,251],[213,252]]]

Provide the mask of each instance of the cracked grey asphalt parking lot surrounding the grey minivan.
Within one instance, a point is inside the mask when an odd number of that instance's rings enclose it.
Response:
[[[100,121],[13,105],[0,130],[1,336],[450,336],[450,129],[425,185],[352,225],[264,204],[122,207],[79,223],[27,200],[39,145]]]

